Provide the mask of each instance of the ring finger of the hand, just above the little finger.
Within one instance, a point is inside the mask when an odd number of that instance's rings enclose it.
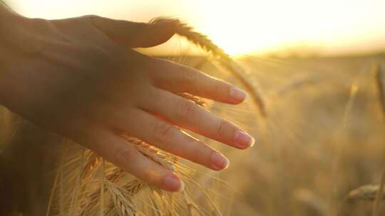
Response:
[[[215,171],[227,168],[229,164],[225,156],[203,144],[202,141],[194,139],[180,131],[178,127],[161,121],[140,109],[135,110],[129,116],[121,116],[118,119],[120,119],[119,129],[130,131],[130,136],[138,137],[164,151]]]

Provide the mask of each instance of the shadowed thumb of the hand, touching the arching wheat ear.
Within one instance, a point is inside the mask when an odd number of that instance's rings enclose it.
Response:
[[[177,28],[175,20],[158,23],[136,23],[101,16],[87,16],[91,24],[116,43],[130,48],[148,48],[165,43]]]

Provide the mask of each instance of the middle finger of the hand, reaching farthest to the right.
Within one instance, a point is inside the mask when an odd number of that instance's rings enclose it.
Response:
[[[217,117],[188,99],[165,90],[158,90],[156,94],[158,99],[148,104],[149,111],[173,124],[236,148],[248,148],[255,142],[252,136],[235,124]]]

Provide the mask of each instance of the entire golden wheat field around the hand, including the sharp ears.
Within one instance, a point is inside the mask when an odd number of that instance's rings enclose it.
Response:
[[[0,107],[0,215],[385,215],[384,55],[234,60],[185,23],[177,33],[210,56],[160,58],[250,98],[233,107],[181,96],[244,127],[256,145],[240,152],[200,137],[232,161],[215,172],[121,133],[182,177],[185,189],[166,193]]]

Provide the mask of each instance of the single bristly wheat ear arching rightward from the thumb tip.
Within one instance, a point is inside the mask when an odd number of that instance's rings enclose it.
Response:
[[[150,23],[160,23],[164,21],[174,21],[176,23],[175,33],[177,33],[179,36],[185,37],[188,39],[188,41],[194,43],[203,50],[207,51],[207,53],[210,53],[212,56],[217,58],[219,63],[224,68],[232,72],[232,74],[235,75],[235,77],[237,77],[240,82],[242,82],[242,85],[245,86],[247,91],[250,92],[250,95],[259,108],[262,117],[267,117],[265,102],[262,99],[262,95],[260,94],[258,88],[255,86],[255,84],[249,81],[250,79],[245,77],[245,70],[234,60],[232,60],[230,55],[228,55],[225,50],[222,50],[222,48],[212,42],[210,38],[204,34],[194,31],[193,27],[188,26],[187,23],[183,23],[178,19],[158,17],[153,18]]]

